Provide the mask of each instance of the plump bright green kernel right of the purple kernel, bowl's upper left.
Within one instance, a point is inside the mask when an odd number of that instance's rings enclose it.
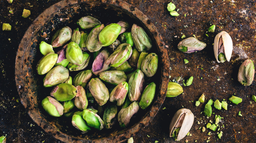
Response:
[[[75,42],[70,42],[66,49],[66,58],[69,62],[80,66],[83,63],[83,52],[79,45]]]

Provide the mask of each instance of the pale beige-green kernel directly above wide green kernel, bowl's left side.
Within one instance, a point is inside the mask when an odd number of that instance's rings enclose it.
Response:
[[[53,87],[65,82],[69,78],[69,70],[63,66],[56,66],[44,77],[44,87]]]

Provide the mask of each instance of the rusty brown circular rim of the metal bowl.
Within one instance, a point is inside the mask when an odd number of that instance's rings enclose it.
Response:
[[[47,124],[47,120],[43,119],[41,116],[38,115],[37,112],[33,111],[31,108],[31,104],[29,103],[29,100],[27,99],[26,94],[32,94],[30,90],[25,90],[23,87],[25,85],[23,78],[21,78],[21,75],[28,74],[28,73],[23,73],[23,60],[24,60],[24,54],[25,54],[25,49],[24,45],[27,45],[31,43],[30,37],[33,36],[34,31],[38,31],[38,27],[40,24],[44,23],[43,17],[49,17],[51,14],[57,12],[59,9],[69,7],[74,4],[83,4],[83,3],[105,3],[108,5],[113,5],[116,7],[121,7],[128,12],[131,12],[133,15],[136,15],[137,18],[145,24],[145,26],[149,29],[149,31],[152,33],[152,36],[156,40],[156,45],[159,48],[159,59],[160,59],[160,64],[161,70],[160,70],[160,87],[159,87],[159,92],[157,94],[158,98],[150,108],[150,110],[146,113],[143,119],[141,119],[137,124],[133,125],[128,129],[126,132],[123,132],[121,134],[118,134],[117,136],[112,136],[109,138],[101,138],[101,139],[94,139],[94,140],[88,140],[88,139],[80,139],[76,138],[70,135],[67,135],[61,131],[58,131],[56,128],[54,128],[52,125]],[[52,11],[49,13],[49,11]],[[35,32],[36,33],[36,32]],[[25,35],[23,36],[16,55],[15,59],[15,81],[16,81],[16,87],[18,90],[18,93],[20,95],[20,100],[21,103],[24,105],[25,109],[27,110],[29,116],[32,118],[32,120],[40,126],[45,132],[48,134],[52,134],[55,138],[64,141],[64,142],[85,142],[86,140],[88,142],[121,142],[124,141],[131,136],[133,136],[135,133],[137,133],[141,128],[145,127],[148,125],[148,121],[151,121],[159,111],[162,103],[164,102],[165,95],[167,92],[167,87],[168,87],[168,82],[169,82],[169,58],[167,54],[167,50],[164,44],[164,41],[161,38],[161,35],[158,33],[157,28],[155,25],[138,9],[133,7],[132,5],[123,2],[122,0],[62,0],[46,10],[44,10],[29,26],[27,29]],[[156,114],[154,114],[156,113]],[[41,120],[40,122],[38,120]]]

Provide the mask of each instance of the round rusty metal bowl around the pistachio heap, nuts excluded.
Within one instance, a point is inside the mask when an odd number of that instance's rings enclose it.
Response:
[[[146,111],[140,110],[130,126],[81,134],[71,125],[71,119],[49,116],[41,106],[51,89],[43,87],[43,77],[37,74],[36,64],[42,57],[39,43],[48,41],[56,30],[75,22],[82,16],[93,15],[103,24],[124,19],[139,24],[152,40],[153,52],[159,56],[159,68],[154,76],[157,93],[154,103]],[[122,142],[148,125],[164,102],[169,80],[169,60],[164,42],[152,22],[137,8],[121,0],[63,0],[41,13],[26,31],[18,48],[15,63],[15,80],[20,99],[30,117],[47,133],[64,142]]]

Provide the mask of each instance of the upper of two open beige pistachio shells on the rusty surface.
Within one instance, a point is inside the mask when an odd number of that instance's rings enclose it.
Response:
[[[221,33],[216,35],[214,39],[213,50],[215,58],[218,63],[224,62],[225,59],[229,62],[233,51],[233,42],[230,35],[227,32],[222,31]],[[220,54],[222,56],[219,56]],[[219,59],[219,57],[221,57],[221,59]]]

